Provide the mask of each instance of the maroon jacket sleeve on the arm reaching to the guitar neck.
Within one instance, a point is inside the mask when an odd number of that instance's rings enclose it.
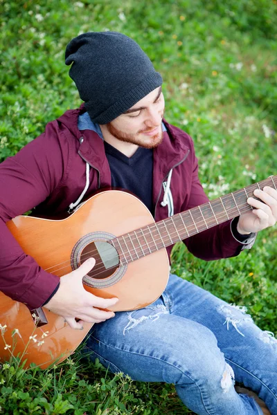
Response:
[[[202,205],[208,202],[203,187],[198,177],[198,163],[193,153],[193,180],[190,189],[190,199],[183,210],[195,208],[195,206]],[[220,225],[215,225],[213,228],[204,230],[193,237],[184,240],[188,250],[195,255],[195,257],[211,261],[213,259],[222,259],[228,257],[235,257],[240,254],[242,249],[251,248],[255,238],[251,237],[244,242],[238,241],[233,236],[231,229],[231,220]]]

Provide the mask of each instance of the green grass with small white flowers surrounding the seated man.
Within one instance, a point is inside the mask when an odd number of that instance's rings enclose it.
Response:
[[[276,0],[3,1],[0,160],[80,99],[64,65],[72,37],[116,30],[133,37],[163,75],[166,119],[195,140],[199,175],[217,197],[276,174]],[[277,332],[276,228],[249,252],[205,263],[173,252],[173,270],[248,307]],[[171,385],[130,382],[80,356],[56,368],[0,374],[0,414],[184,414]]]

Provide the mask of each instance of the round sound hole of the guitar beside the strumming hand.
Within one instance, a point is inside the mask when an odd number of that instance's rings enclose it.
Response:
[[[105,279],[110,277],[116,272],[119,265],[119,257],[116,248],[108,242],[94,241],[88,243],[80,255],[80,264],[89,257],[93,257],[96,260],[96,264],[87,275],[95,279]]]

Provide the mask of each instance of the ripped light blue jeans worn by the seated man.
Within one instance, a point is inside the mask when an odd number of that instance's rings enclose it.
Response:
[[[262,415],[253,398],[236,393],[236,380],[277,415],[277,340],[245,312],[170,275],[150,306],[95,324],[87,347],[114,373],[173,383],[196,414]]]

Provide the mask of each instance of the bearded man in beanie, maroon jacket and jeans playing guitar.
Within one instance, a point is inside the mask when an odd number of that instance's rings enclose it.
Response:
[[[87,340],[92,358],[135,380],[174,383],[199,415],[266,413],[247,394],[237,394],[234,380],[277,415],[276,343],[240,307],[170,275],[161,297],[146,308],[116,315],[99,310],[117,299],[82,287],[93,259],[59,279],[24,255],[8,232],[5,222],[34,206],[36,215],[72,211],[84,195],[109,185],[139,196],[156,220],[208,200],[193,141],[163,120],[161,75],[132,39],[85,33],[66,47],[66,64],[84,105],[50,122],[0,166],[1,291],[30,309],[46,305],[73,329],[98,323]],[[276,189],[255,196],[248,199],[253,210],[186,239],[188,249],[211,260],[250,248],[255,233],[277,218]]]

